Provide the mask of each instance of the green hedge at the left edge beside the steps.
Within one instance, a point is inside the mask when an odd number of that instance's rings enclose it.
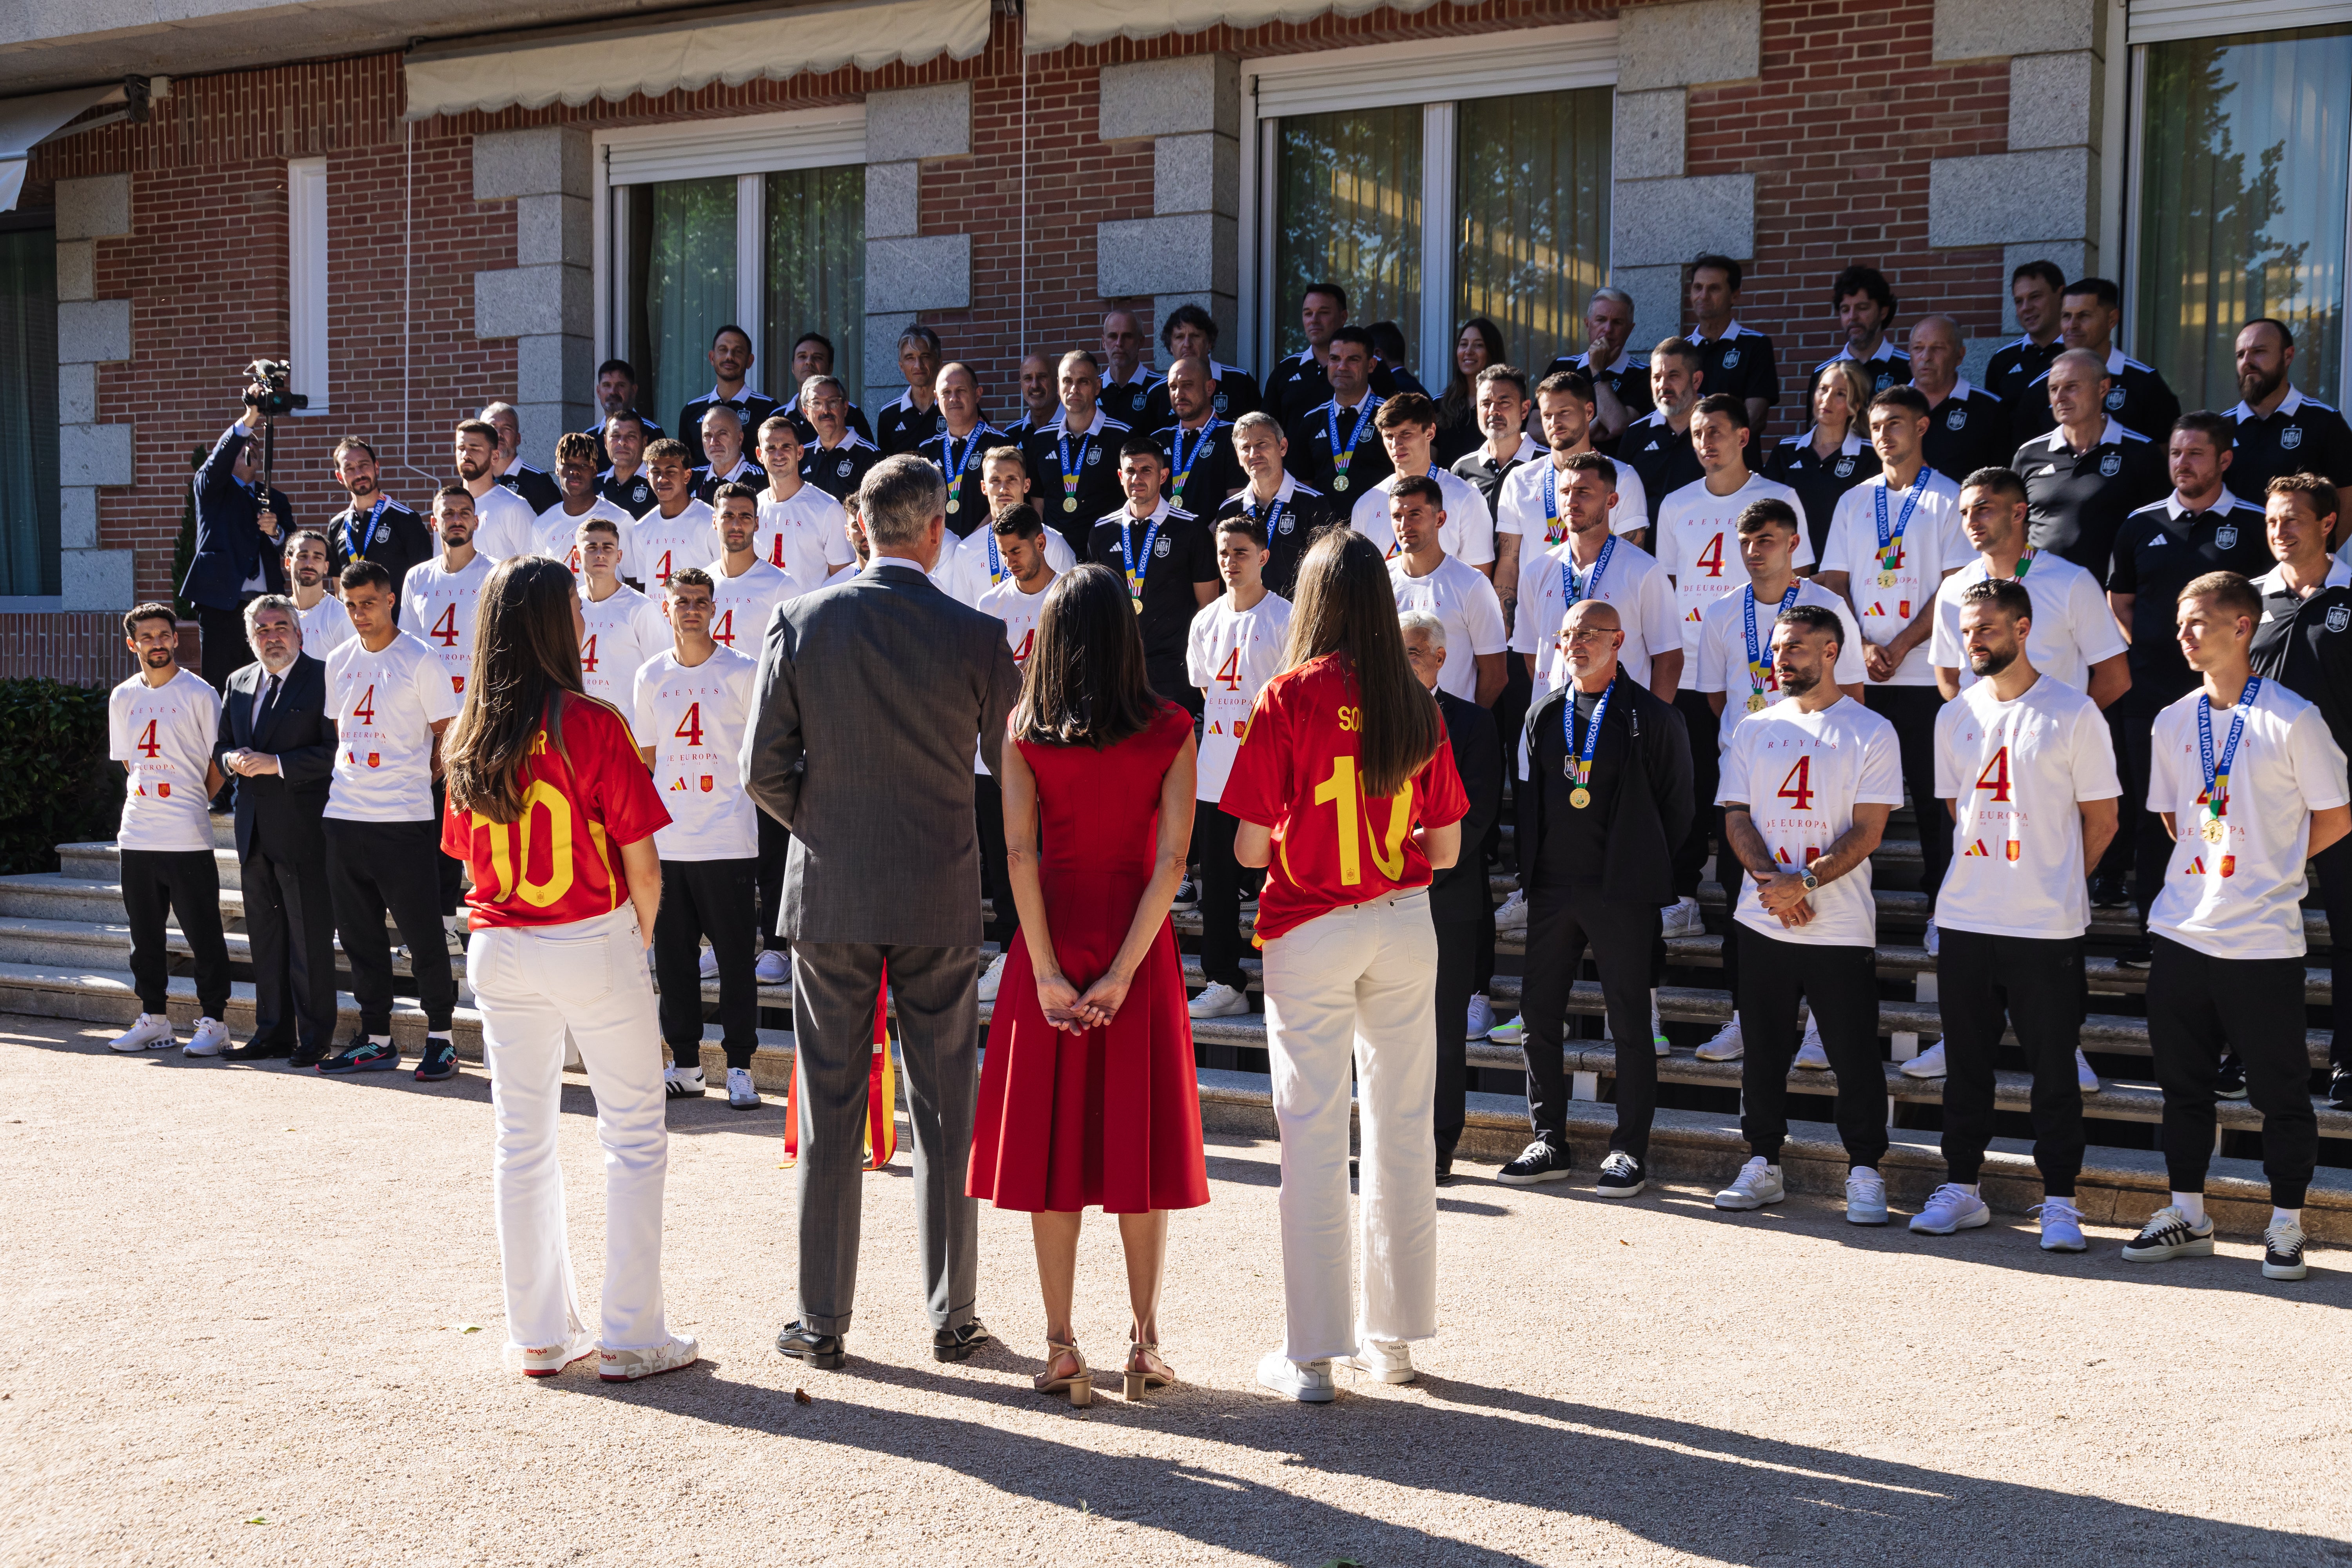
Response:
[[[59,844],[113,839],[120,823],[106,686],[0,679],[0,872],[54,872]]]

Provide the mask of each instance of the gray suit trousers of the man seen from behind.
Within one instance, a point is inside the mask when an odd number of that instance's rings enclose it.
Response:
[[[793,943],[793,1074],[800,1098],[800,1321],[847,1333],[866,1201],[866,1084],[889,964],[915,1143],[915,1248],[931,1328],[971,1321],[981,1211],[964,1192],[978,1103],[978,947]]]

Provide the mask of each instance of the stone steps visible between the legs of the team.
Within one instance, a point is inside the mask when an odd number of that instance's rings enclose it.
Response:
[[[1907,823],[1907,813],[1898,813],[1900,823]],[[226,818],[214,820],[214,839],[221,863],[221,914],[238,976],[226,1023],[238,1037],[245,1037],[254,1025],[254,987],[249,983],[245,900]],[[1943,1161],[1936,1152],[1938,1135],[1933,1126],[1926,1126],[1943,1103],[1943,1084],[1900,1072],[1900,1063],[1910,1060],[1922,1044],[1940,1037],[1936,964],[1917,945],[1929,900],[1903,886],[1917,882],[1917,867],[1919,846],[1915,839],[1891,837],[1875,856],[1882,938],[1877,950],[1879,1032],[1886,1041],[1884,1074],[1893,1100],[1893,1150],[1884,1173],[1898,1201],[1912,1204],[1943,1178]],[[1496,898],[1512,886],[1515,879],[1494,877]],[[1722,931],[1724,910],[1717,884],[1710,882],[1703,889],[1700,905],[1710,924]],[[2328,945],[2326,922],[2307,914],[2305,926],[2314,950],[2324,950]],[[1178,914],[1176,931],[1188,950],[1195,947],[1200,917]],[[2161,1117],[2161,1095],[2147,1060],[2145,971],[2129,969],[2114,957],[2131,938],[2129,919],[2100,912],[2091,929],[2093,1011],[2084,1023],[2084,1051],[2100,1072],[2103,1091],[2086,1100],[2093,1147],[2077,1201],[2093,1222],[2114,1225],[2133,1225],[2145,1218],[2164,1201],[2166,1190],[2164,1159],[2154,1152],[2152,1135],[2152,1124]],[[1668,1180],[1729,1180],[1745,1157],[1745,1145],[1738,1138],[1738,1063],[1700,1063],[1691,1053],[1731,1016],[1731,997],[1722,990],[1722,936],[1710,933],[1668,943],[1668,976],[1658,992],[1658,1011],[1675,1051],[1658,1060],[1661,1110],[1651,1140],[1651,1166]],[[169,947],[174,959],[172,1013],[186,1027],[195,1016],[195,983],[188,943],[176,929],[169,933]],[[1498,943],[1498,959],[1501,969],[1517,971],[1524,950],[1517,940],[1505,938]],[[452,959],[452,964],[459,973],[461,1006],[454,1020],[459,1053],[480,1060],[480,1013],[463,983],[463,959]],[[1256,999],[1258,966],[1251,959],[1247,969],[1251,999]],[[395,959],[395,973],[405,980],[407,964]],[[1190,952],[1185,976],[1195,987],[1202,983],[1200,961]],[[1517,973],[1498,973],[1491,997],[1496,1016],[1508,1018],[1519,1001]],[[339,1001],[341,1032],[348,1034],[358,1027],[358,1006],[348,992]],[[703,1001],[715,1016],[715,980],[703,983]],[[2305,1001],[2314,1009],[2328,1006],[2326,969],[2307,971]],[[753,1077],[769,1093],[781,1093],[790,1079],[790,985],[760,987],[762,1030]],[[1573,987],[1569,1006],[1573,1016],[1585,1020],[1588,1034],[1599,1034],[1602,994],[1597,980],[1583,978]],[[129,926],[125,924],[113,844],[61,844],[56,872],[0,877],[0,1011],[89,1023],[127,1023],[136,1016]],[[981,1013],[985,1018],[988,1009],[983,1006]],[[402,999],[395,1009],[393,1034],[405,1051],[423,1046],[423,1013],[414,1001]],[[703,1065],[713,1074],[724,1065],[717,1039],[717,1027],[708,1025]],[[2310,1030],[2314,1070],[2326,1065],[2328,1039],[2326,1030]],[[1221,1131],[1272,1135],[1263,1013],[1200,1020],[1195,1023],[1195,1041],[1204,1063],[1200,1067],[1204,1124]],[[1482,1164],[1498,1164],[1515,1154],[1529,1133],[1519,1053],[1472,1041],[1470,1067],[1470,1128],[1463,1138],[1458,1168],[1475,1173]],[[1606,1098],[1613,1088],[1616,1046],[1606,1039],[1569,1041],[1566,1067],[1576,1086],[1569,1131],[1578,1164],[1590,1168],[1606,1147],[1613,1124],[1613,1107]],[[1999,1131],[2013,1135],[1994,1140],[1985,1166],[1985,1194],[1997,1208],[2018,1211],[2039,1201],[2039,1180],[2027,1157],[2030,1131],[2025,1128],[2030,1086],[2020,1060],[2009,1060],[1999,1072]],[[1792,1112],[1818,1117],[1818,1121],[1797,1121],[1792,1128],[1795,1138],[1785,1157],[1790,1185],[1837,1192],[1844,1182],[1844,1159],[1835,1128],[1828,1126],[1835,1074],[1792,1070],[1790,1088],[1802,1095]],[[2321,1133],[2321,1171],[2312,1185],[2305,1225],[2314,1239],[2352,1239],[2352,1112],[2328,1110],[2324,1098],[2314,1100],[2314,1112]],[[2258,1159],[2251,1159],[2256,1147],[2244,1135],[2260,1128],[2260,1117],[2244,1100],[2225,1100],[2220,1126],[2225,1152],[2216,1159],[2209,1182],[2213,1213],[2232,1232],[2258,1232],[2267,1215],[2267,1187]],[[2239,1147],[2232,1147],[2232,1138],[2239,1140]]]

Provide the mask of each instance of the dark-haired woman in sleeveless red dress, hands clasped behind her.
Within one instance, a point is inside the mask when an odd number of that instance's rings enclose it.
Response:
[[[1030,1215],[1047,1338],[1035,1382],[1070,1403],[1094,1396],[1070,1331],[1080,1218],[1120,1215],[1138,1399],[1176,1380],[1160,1359],[1169,1208],[1207,1204],[1209,1173],[1169,926],[1192,842],[1192,717],[1143,679],[1143,637],[1110,569],[1077,567],[1047,590],[1009,738],[1021,943],[988,1025],[969,1190]]]

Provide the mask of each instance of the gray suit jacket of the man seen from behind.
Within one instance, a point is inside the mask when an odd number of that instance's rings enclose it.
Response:
[[[913,564],[776,607],[743,780],[793,830],[779,936],[976,947],[971,755],[995,771],[1018,696],[1004,623]]]

